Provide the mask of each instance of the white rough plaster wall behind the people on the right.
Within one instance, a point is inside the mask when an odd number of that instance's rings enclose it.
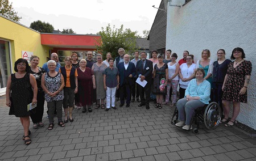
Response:
[[[184,0],[172,0],[183,5]],[[182,58],[184,50],[194,54],[195,62],[201,51],[209,49],[211,59],[217,60],[217,50],[225,49],[230,58],[232,50],[241,47],[246,60],[253,63],[251,81],[247,88],[248,103],[241,103],[237,120],[256,129],[256,1],[255,0],[191,0],[182,7],[167,5],[166,49]]]

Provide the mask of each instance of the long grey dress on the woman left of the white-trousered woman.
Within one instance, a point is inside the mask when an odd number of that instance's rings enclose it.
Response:
[[[97,66],[96,63],[93,64],[94,69],[93,73],[95,75],[95,81],[96,81],[96,99],[105,99],[106,98],[106,91],[104,89],[104,83],[103,83],[103,73],[106,69],[105,63],[102,63],[101,66]]]

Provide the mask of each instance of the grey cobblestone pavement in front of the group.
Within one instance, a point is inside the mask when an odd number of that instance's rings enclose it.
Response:
[[[0,98],[0,160],[256,160],[256,141],[236,127],[223,125],[198,134],[171,125],[174,108],[137,107],[73,112],[64,128],[33,129],[32,143],[24,145],[19,118],[9,116],[5,96]],[[63,115],[64,116],[64,115]]]

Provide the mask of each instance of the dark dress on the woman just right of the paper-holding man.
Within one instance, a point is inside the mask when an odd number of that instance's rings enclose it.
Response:
[[[158,65],[156,64],[154,66],[155,69],[155,78],[154,78],[154,89],[153,94],[154,95],[166,95],[166,88],[164,88],[163,91],[160,91],[160,80],[162,78],[166,79],[166,69],[168,69],[168,65],[164,64],[162,67],[158,68]]]

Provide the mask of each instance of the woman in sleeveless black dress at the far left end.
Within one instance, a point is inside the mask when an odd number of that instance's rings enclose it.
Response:
[[[27,105],[32,103],[35,105],[38,94],[35,77],[29,74],[30,66],[27,60],[22,58],[14,63],[16,73],[11,74],[6,86],[6,105],[10,107],[9,115],[19,117],[24,129],[23,139],[26,145],[30,145],[30,114],[34,109],[27,110]]]

